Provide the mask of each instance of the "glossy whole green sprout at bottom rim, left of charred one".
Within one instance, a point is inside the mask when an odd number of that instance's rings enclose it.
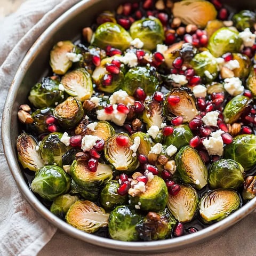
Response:
[[[108,231],[111,238],[120,241],[138,241],[136,227],[141,215],[128,205],[117,206],[109,214]]]

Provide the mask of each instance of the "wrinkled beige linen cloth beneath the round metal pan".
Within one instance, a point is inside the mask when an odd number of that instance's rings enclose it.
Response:
[[[29,47],[61,13],[78,0],[29,0],[0,20],[0,113],[7,90]],[[207,242],[169,253],[147,255],[256,255],[256,213],[253,212]],[[57,230],[34,211],[12,178],[0,143],[0,255],[73,256],[134,255],[91,245]],[[56,232],[57,231],[57,232]],[[186,239],[186,238],[185,238]],[[142,253],[138,253],[141,255]],[[137,255],[138,255],[137,254]]]

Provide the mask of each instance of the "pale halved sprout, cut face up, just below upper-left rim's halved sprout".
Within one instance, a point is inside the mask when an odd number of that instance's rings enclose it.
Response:
[[[65,92],[79,101],[90,99],[93,93],[92,78],[85,68],[72,70],[62,76]]]

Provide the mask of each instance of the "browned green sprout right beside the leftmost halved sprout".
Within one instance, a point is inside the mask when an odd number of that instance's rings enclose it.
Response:
[[[69,147],[61,142],[62,135],[61,132],[49,133],[41,141],[39,150],[45,165],[62,166],[62,156],[69,150]]]

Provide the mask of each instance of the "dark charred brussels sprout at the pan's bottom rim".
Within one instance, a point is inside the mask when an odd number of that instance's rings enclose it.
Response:
[[[149,212],[138,223],[136,230],[142,241],[161,240],[171,238],[176,222],[172,214],[165,208],[160,212]]]

